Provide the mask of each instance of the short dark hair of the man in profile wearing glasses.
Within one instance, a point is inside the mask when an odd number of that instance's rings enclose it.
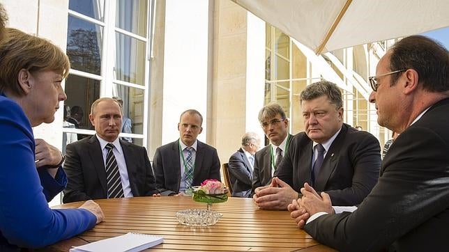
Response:
[[[413,69],[418,81],[430,92],[449,90],[449,52],[438,42],[425,36],[409,36],[399,40],[390,49],[390,70]],[[400,73],[392,74],[393,86]]]

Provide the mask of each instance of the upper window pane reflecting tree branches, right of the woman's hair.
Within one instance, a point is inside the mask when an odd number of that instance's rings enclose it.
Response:
[[[73,69],[100,75],[102,27],[68,16],[67,55]]]

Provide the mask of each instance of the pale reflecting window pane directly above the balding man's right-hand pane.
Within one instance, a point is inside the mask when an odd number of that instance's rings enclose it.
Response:
[[[121,81],[144,85],[145,42],[116,33],[115,77]]]

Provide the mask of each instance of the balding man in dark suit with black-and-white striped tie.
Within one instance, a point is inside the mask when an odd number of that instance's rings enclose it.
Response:
[[[89,119],[96,135],[67,145],[64,170],[68,183],[64,203],[158,194],[145,148],[119,139],[121,115],[119,103],[112,98],[103,97],[93,102]],[[112,146],[113,155],[109,154],[108,146]],[[109,160],[112,164],[116,162],[116,166],[109,166]],[[107,179],[110,173],[109,177],[119,173],[114,185],[119,194],[110,193],[111,179]]]

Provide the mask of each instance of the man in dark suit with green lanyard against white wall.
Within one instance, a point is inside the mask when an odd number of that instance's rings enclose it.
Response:
[[[215,148],[197,140],[203,116],[195,109],[181,113],[179,139],[156,149],[153,159],[156,185],[162,196],[192,193],[208,179],[220,180],[220,160]]]

